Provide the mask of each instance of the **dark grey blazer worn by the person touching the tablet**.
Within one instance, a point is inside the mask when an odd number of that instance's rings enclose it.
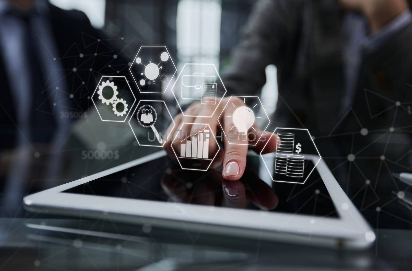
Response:
[[[260,0],[233,50],[233,65],[223,79],[228,91],[256,93],[266,82],[265,67],[274,64],[280,97],[273,124],[329,134],[342,117],[345,95],[342,14],[333,0]],[[353,109],[370,130],[391,124],[393,116],[371,119],[370,112],[386,108],[386,101],[369,102],[368,110],[365,88],[391,99],[412,100],[411,89],[405,88],[412,70],[411,41],[409,25],[378,51],[363,52]],[[344,124],[342,131],[360,130],[358,124]]]

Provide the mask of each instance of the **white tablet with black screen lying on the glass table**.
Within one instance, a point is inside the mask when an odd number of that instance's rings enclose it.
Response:
[[[164,151],[24,198],[27,210],[173,229],[367,248],[375,234],[321,160],[302,184],[272,182],[257,155],[239,181],[182,170]],[[313,163],[310,155],[306,155]],[[225,192],[225,189],[227,192]]]

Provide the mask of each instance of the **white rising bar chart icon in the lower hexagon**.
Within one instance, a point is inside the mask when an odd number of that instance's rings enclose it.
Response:
[[[209,130],[206,127],[180,141],[180,157],[185,159],[209,159]]]

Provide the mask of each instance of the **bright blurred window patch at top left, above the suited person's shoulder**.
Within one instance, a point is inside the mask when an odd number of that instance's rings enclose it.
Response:
[[[50,0],[50,3],[62,9],[81,10],[86,13],[94,27],[104,26],[106,0]]]

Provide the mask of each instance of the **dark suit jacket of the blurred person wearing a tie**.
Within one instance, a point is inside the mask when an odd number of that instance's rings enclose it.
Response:
[[[47,18],[52,26],[52,35],[58,56],[56,58],[63,66],[64,81],[67,84],[66,89],[75,91],[75,97],[68,99],[68,110],[82,112],[91,105],[91,96],[102,75],[125,75],[128,69],[128,61],[119,56],[114,59],[113,54],[116,45],[107,41],[106,35],[101,31],[93,28],[86,14],[77,10],[66,11],[54,5],[49,5],[49,17]],[[101,42],[97,42],[101,39]],[[97,56],[94,54],[97,53]],[[80,54],[84,57],[80,58]],[[108,64],[122,70],[117,74],[116,70],[109,68]],[[77,67],[77,72],[73,68]],[[10,93],[9,79],[5,70],[5,65],[0,56],[0,82],[2,82],[2,98],[0,99],[0,125],[2,129],[2,138],[0,140],[0,150],[11,149],[16,144],[16,133],[18,123],[16,120],[16,108],[12,101]],[[90,72],[90,68],[93,69]],[[45,75],[44,82],[49,75]],[[85,82],[82,85],[82,82]],[[44,98],[49,93],[44,92]],[[68,95],[68,94],[67,94]],[[57,116],[59,117],[59,116]],[[50,131],[52,133],[52,131]]]

